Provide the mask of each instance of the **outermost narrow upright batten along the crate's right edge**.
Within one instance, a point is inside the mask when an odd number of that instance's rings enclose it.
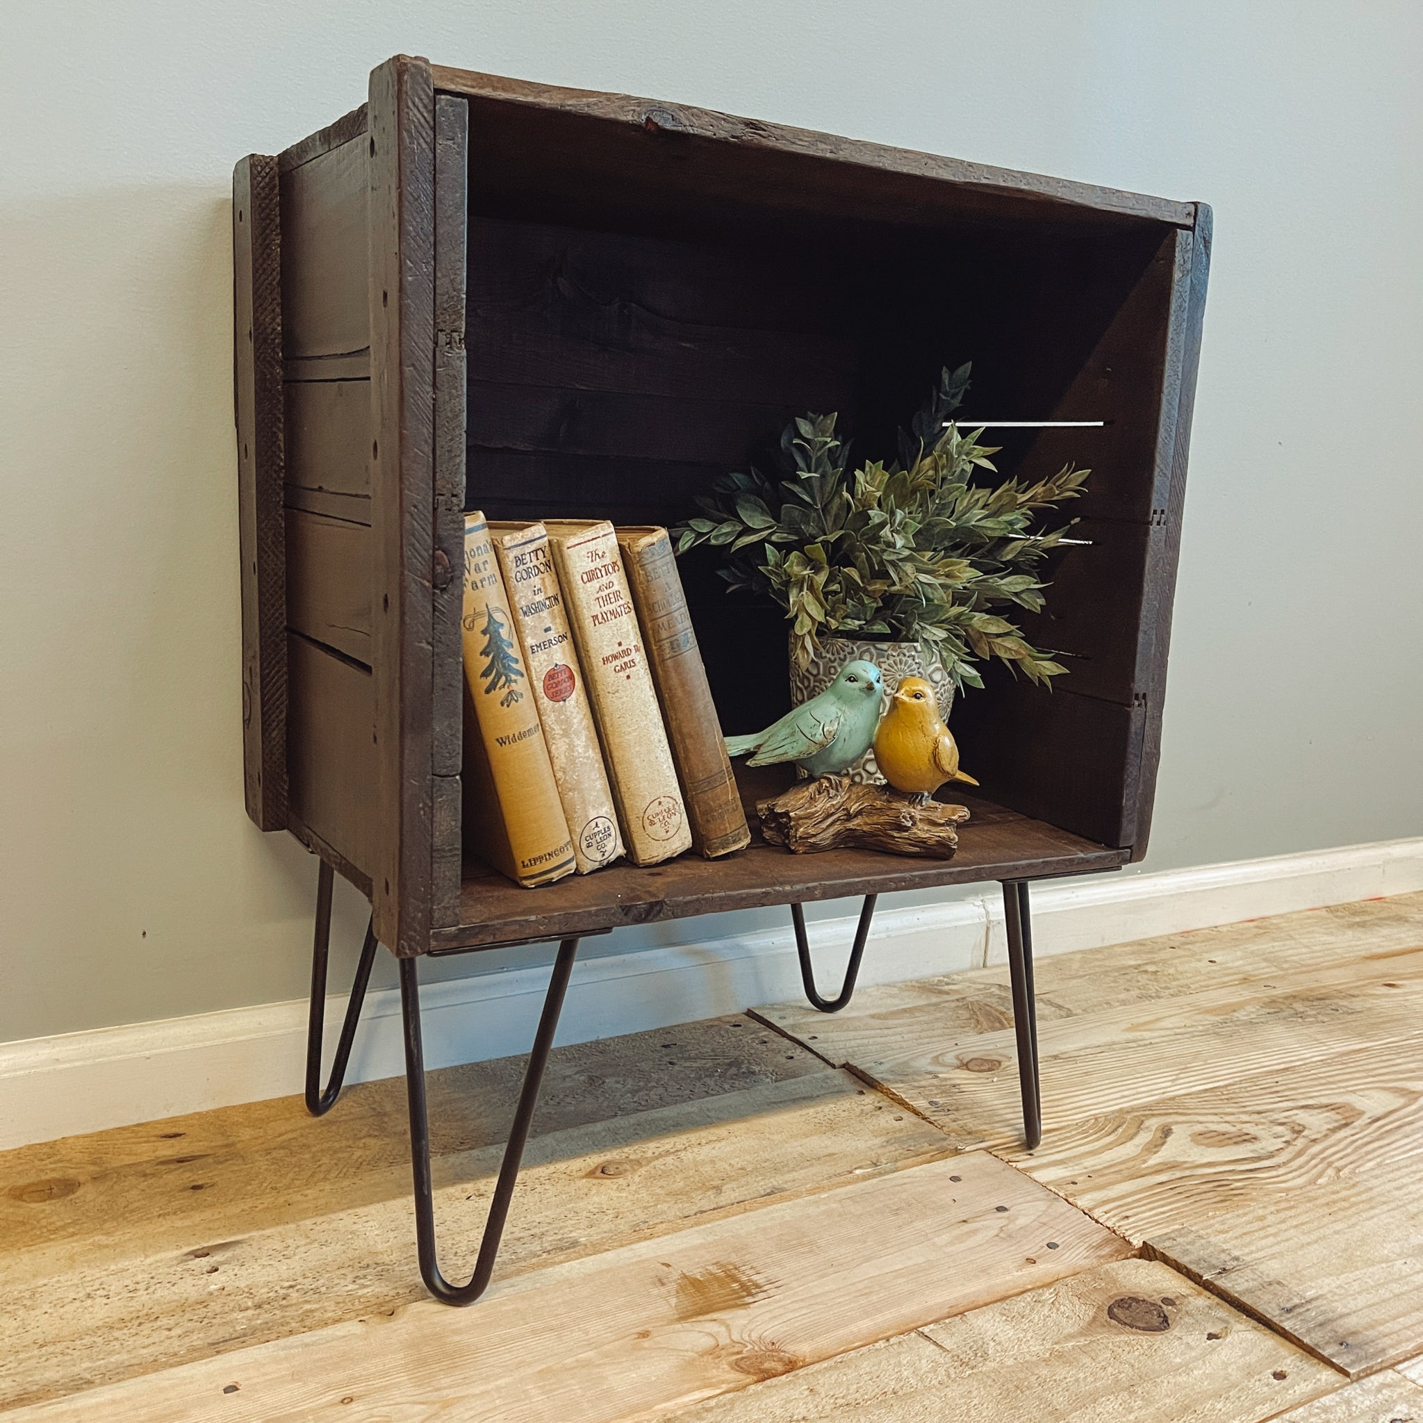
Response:
[[[1137,787],[1136,835],[1133,861],[1147,852],[1151,813],[1155,805],[1157,767],[1161,760],[1161,716],[1165,706],[1167,655],[1171,647],[1171,610],[1175,602],[1175,575],[1181,556],[1181,517],[1185,508],[1185,474],[1191,448],[1191,421],[1195,414],[1195,381],[1201,360],[1201,334],[1205,323],[1205,289],[1211,270],[1212,213],[1197,205],[1192,233],[1181,233],[1183,253],[1177,263],[1177,292],[1184,289],[1184,313],[1178,324],[1175,408],[1171,444],[1158,461],[1157,502],[1164,511],[1153,519],[1153,542],[1147,564],[1148,609],[1140,655],[1146,707],[1143,720],[1141,774]],[[1185,262],[1185,255],[1190,262]],[[1163,413],[1163,424],[1165,414]],[[1168,455],[1168,457],[1167,457]]]

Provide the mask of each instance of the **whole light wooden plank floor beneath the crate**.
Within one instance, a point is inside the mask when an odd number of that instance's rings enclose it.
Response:
[[[400,1081],[0,1154],[0,1410],[1423,1423],[1423,895],[1039,989],[1032,1154],[1003,968],[556,1050],[471,1311]],[[431,1074],[451,1274],[521,1070]]]

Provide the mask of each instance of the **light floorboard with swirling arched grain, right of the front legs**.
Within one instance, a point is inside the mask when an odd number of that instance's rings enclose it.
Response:
[[[1350,1375],[1423,1346],[1423,1030],[1005,1155]]]

